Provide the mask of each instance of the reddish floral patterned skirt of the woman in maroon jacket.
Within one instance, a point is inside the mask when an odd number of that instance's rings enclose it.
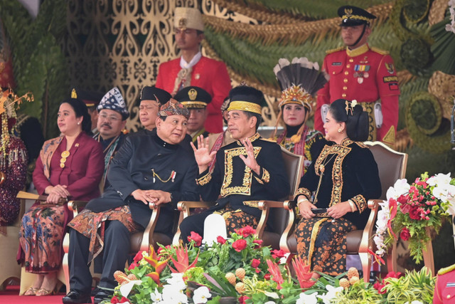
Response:
[[[32,206],[24,214],[19,242],[25,253],[26,271],[33,273],[58,271],[62,261],[60,247],[64,219],[65,207],[57,205]]]

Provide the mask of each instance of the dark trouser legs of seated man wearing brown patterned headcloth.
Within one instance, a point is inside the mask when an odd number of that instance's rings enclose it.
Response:
[[[70,229],[70,289],[79,293],[90,293],[92,274],[88,263],[90,239],[74,229]],[[124,271],[130,248],[130,234],[119,221],[106,221],[105,244],[102,256],[102,275],[100,287],[115,288],[118,283],[114,280],[115,271]]]

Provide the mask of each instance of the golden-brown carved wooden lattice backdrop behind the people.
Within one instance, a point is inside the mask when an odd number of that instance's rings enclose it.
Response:
[[[257,23],[210,0],[68,1],[69,35],[63,48],[69,61],[70,83],[103,93],[117,86],[131,113],[129,130],[135,131],[140,125],[137,100],[141,88],[154,85],[160,63],[178,56],[173,40],[173,10],[177,6],[199,7],[203,14]],[[232,85],[241,80],[232,73],[231,78]],[[264,124],[272,125],[276,120],[274,97],[266,99]]]

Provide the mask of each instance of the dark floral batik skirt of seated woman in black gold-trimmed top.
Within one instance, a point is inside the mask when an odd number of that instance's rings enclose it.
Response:
[[[336,221],[320,217],[302,219],[296,229],[297,254],[309,263],[311,271],[338,276],[346,269],[346,234],[355,229],[343,218]]]

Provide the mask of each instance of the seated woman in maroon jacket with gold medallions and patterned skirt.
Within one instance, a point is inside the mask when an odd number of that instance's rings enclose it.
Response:
[[[44,142],[33,171],[38,194],[47,194],[45,202],[36,201],[23,215],[19,232],[18,261],[36,280],[24,295],[50,295],[57,283],[63,259],[63,236],[73,213],[69,199],[88,201],[100,196],[98,185],[104,171],[102,147],[91,135],[92,122],[87,106],[77,95],[64,100],[58,109],[60,137]]]

